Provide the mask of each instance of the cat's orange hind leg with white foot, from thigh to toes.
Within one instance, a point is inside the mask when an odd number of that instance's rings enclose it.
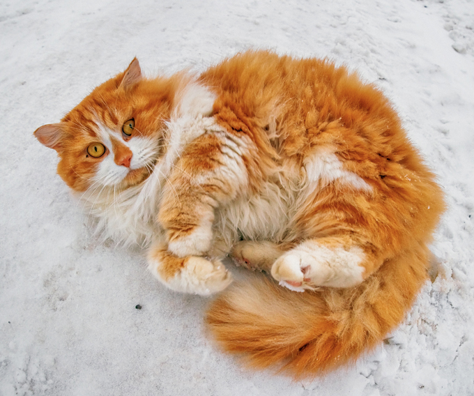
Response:
[[[415,205],[403,194],[380,191],[350,172],[336,176],[330,183],[308,183],[298,203],[293,224],[305,237],[271,269],[286,287],[353,287],[418,243],[412,237]]]

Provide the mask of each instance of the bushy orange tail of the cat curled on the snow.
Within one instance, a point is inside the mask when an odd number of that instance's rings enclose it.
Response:
[[[351,289],[297,293],[256,278],[213,301],[206,321],[217,342],[252,367],[296,378],[353,362],[404,319],[428,277],[424,246],[385,261]]]

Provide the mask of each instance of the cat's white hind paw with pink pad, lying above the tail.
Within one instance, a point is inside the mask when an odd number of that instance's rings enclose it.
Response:
[[[283,254],[272,266],[272,276],[294,291],[315,287],[352,287],[363,280],[360,248],[328,248],[307,241]]]

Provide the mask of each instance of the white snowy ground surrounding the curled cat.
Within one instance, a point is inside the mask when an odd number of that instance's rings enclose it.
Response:
[[[473,0],[1,1],[0,395],[474,395],[473,29]],[[219,351],[207,300],[98,245],[32,136],[135,55],[151,75],[247,47],[379,84],[448,196],[436,280],[379,349],[314,381]]]

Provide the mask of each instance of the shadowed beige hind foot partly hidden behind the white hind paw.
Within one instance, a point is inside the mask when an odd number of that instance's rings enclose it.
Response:
[[[231,257],[238,266],[270,273],[275,260],[285,251],[281,244],[270,241],[239,241],[232,248]]]

